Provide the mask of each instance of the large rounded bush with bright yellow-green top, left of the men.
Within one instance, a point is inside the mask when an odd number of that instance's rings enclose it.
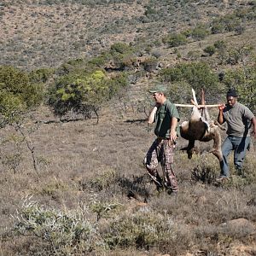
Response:
[[[101,70],[84,75],[71,73],[62,76],[49,88],[48,103],[56,116],[62,117],[73,111],[90,118],[91,113],[96,113],[98,121],[102,103],[108,102],[126,84],[124,74],[109,79]]]

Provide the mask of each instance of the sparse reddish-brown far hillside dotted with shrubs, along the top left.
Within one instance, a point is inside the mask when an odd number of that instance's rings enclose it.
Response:
[[[160,42],[253,1],[7,1],[0,3],[1,61],[25,69],[57,67],[114,42]],[[253,42],[253,40],[252,40]],[[159,43],[158,43],[159,44]]]

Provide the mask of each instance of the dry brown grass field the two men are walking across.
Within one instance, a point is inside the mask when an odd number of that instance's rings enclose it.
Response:
[[[175,159],[180,192],[172,197],[157,192],[145,175],[142,160],[154,135],[148,134],[145,123],[136,121],[143,116],[130,115],[130,122],[107,111],[102,116],[99,125],[95,125],[94,119],[42,124],[32,132],[31,143],[40,159],[38,174],[24,144],[20,145],[22,160],[16,173],[1,165],[3,255],[17,252],[35,255],[38,248],[49,247],[45,240],[34,236],[26,239],[11,231],[17,220],[10,216],[19,216],[16,210],[22,210],[23,201],[31,195],[45,209],[62,212],[86,209],[84,218],[100,227],[97,239],[102,246],[91,244],[92,255],[125,255],[123,250],[128,250],[127,255],[132,255],[132,251],[143,255],[145,250],[147,255],[196,255],[200,251],[206,255],[235,255],[228,253],[227,247],[233,253],[241,247],[253,252],[252,226],[240,230],[239,227],[224,229],[220,224],[236,218],[247,218],[252,225],[256,223],[254,150],[247,154],[248,177],[234,174],[230,183],[219,186],[213,182],[219,172],[217,159],[203,152],[188,160],[186,154],[178,151],[186,143],[180,139]],[[13,132],[12,127],[2,130],[1,141]],[[5,144],[2,154],[9,149],[13,152],[11,145],[14,147],[11,142]],[[231,166],[232,174],[233,171]],[[201,178],[205,172],[208,172],[207,180]],[[129,191],[137,194],[137,199],[129,199]],[[146,204],[140,202],[145,198]],[[76,251],[76,255],[83,255],[82,251]]]

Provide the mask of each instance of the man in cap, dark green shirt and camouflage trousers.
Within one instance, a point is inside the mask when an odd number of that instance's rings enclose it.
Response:
[[[163,85],[158,85],[149,92],[153,94],[155,106],[149,113],[148,124],[155,123],[154,134],[157,138],[148,149],[144,165],[158,190],[166,187],[168,192],[175,195],[177,193],[177,179],[172,166],[179,114],[175,105],[167,100],[166,88]],[[163,169],[164,181],[157,172],[159,162]]]

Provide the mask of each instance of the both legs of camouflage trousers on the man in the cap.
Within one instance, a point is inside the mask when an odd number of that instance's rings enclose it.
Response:
[[[174,148],[169,143],[169,140],[157,138],[148,149],[143,163],[158,189],[165,186],[172,192],[177,192],[177,179],[173,172]],[[159,162],[163,170],[164,180],[160,178],[157,172]]]

